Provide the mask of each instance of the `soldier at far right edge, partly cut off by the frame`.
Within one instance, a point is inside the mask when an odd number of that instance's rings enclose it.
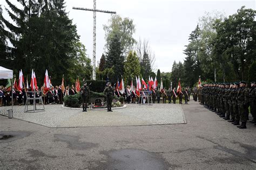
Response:
[[[255,97],[256,97],[256,88],[255,88],[256,84],[254,81],[251,82],[251,89],[249,91],[249,102],[250,102],[250,108],[251,108],[251,114],[253,117],[253,120],[250,121],[250,123],[255,124],[256,123],[256,101],[255,101]]]

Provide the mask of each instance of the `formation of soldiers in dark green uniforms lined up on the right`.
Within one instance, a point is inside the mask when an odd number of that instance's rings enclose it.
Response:
[[[239,128],[246,128],[249,109],[256,125],[256,83],[210,83],[193,90],[194,100],[198,100],[208,110],[215,112]],[[241,121],[241,124],[240,124]]]

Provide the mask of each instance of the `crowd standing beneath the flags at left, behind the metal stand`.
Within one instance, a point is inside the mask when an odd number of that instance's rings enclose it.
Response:
[[[0,106],[10,106],[11,98],[13,98],[14,105],[22,105],[26,104],[26,98],[35,98],[42,97],[45,105],[47,104],[63,104],[63,98],[66,95],[74,95],[77,93],[75,91],[75,87],[72,85],[71,87],[66,86],[63,91],[61,86],[51,86],[50,90],[47,93],[43,93],[44,87],[42,86],[40,90],[32,92],[31,89],[23,88],[22,91],[17,89],[10,89],[4,86],[0,86]],[[39,103],[39,99],[36,99],[36,103]],[[29,100],[29,104],[33,105],[33,100]]]

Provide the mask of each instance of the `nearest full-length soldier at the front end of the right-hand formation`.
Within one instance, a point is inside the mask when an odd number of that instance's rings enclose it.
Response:
[[[246,106],[249,102],[249,91],[246,88],[246,81],[240,81],[240,88],[238,90],[238,112],[241,118],[241,125],[237,126],[239,128],[246,128],[246,121],[247,121],[247,113],[246,113]],[[234,124],[235,125],[235,124]],[[238,123],[239,125],[239,123]]]

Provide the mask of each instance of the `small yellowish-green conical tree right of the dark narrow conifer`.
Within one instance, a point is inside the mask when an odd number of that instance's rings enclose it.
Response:
[[[130,51],[129,55],[124,64],[124,81],[125,84],[129,84],[131,79],[135,79],[136,76],[140,74],[140,64],[139,59],[135,51]]]

